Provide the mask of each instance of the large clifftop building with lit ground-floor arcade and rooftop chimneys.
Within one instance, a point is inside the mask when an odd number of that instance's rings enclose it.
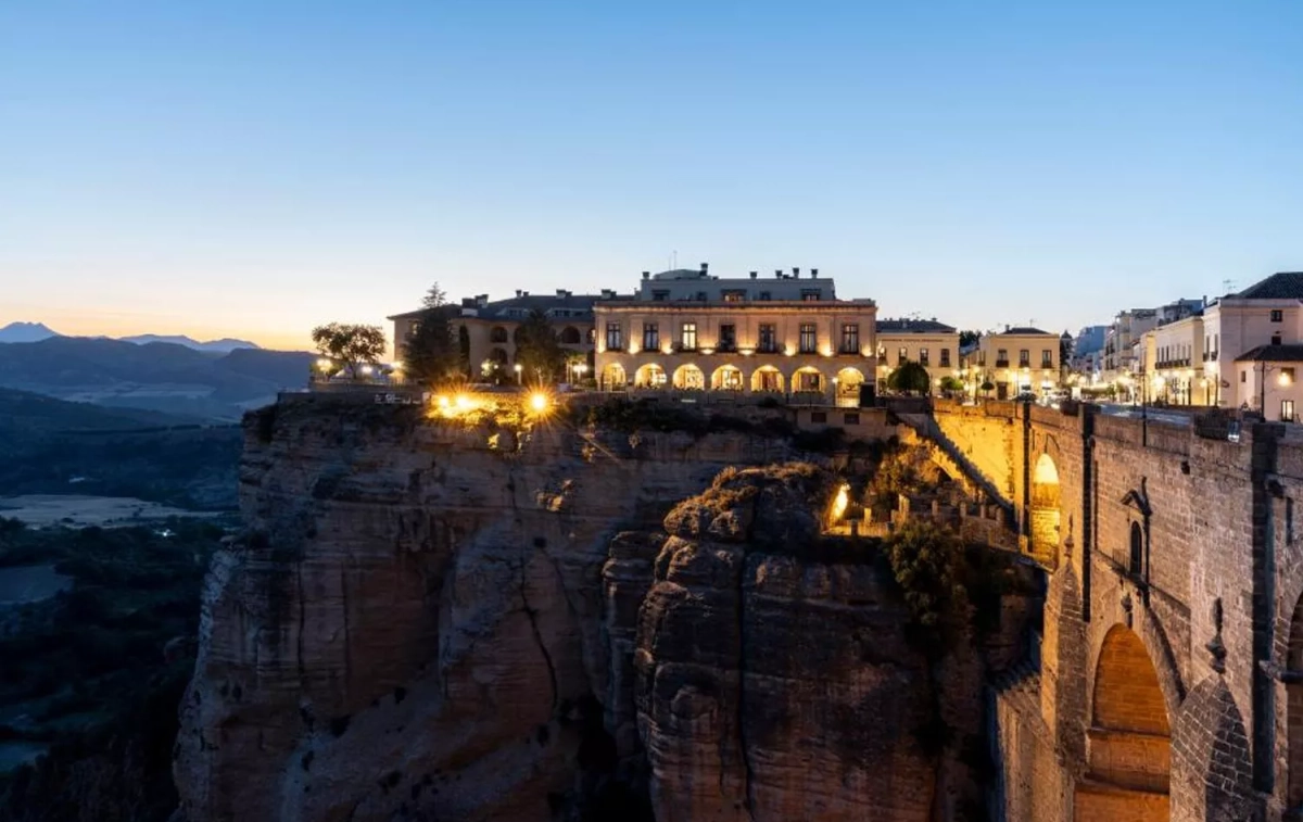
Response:
[[[718,277],[642,274],[632,298],[593,305],[603,391],[787,395],[857,405],[877,375],[877,304],[838,300],[833,280],[799,268]]]

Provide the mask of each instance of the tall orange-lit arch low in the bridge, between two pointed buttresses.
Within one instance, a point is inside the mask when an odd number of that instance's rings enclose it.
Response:
[[[1124,625],[1110,628],[1100,649],[1087,759],[1076,819],[1169,818],[1167,703],[1144,642]]]

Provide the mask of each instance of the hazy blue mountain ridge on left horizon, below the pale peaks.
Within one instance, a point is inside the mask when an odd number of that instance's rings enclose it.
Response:
[[[314,358],[306,352],[240,347],[223,353],[175,343],[56,335],[0,344],[0,388],[235,421],[274,401],[278,391],[305,387]]]

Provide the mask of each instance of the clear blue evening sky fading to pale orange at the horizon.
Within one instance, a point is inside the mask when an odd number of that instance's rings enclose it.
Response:
[[[1303,270],[1303,3],[0,4],[0,326],[308,348],[675,259],[1055,331]]]

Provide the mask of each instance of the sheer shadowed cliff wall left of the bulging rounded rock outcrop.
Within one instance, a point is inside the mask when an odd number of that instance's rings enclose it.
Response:
[[[614,709],[611,537],[790,453],[308,400],[245,429],[249,535],[208,574],[181,707],[192,822],[551,818]]]

